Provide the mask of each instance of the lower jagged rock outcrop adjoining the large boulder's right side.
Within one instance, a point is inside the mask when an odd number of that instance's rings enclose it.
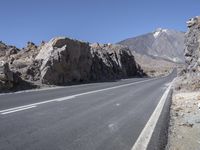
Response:
[[[127,47],[92,44],[91,80],[110,80],[142,75],[140,66]]]

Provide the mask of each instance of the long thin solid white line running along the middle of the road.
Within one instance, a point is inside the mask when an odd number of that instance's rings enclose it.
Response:
[[[43,101],[43,102],[38,102],[38,103],[32,103],[32,104],[29,104],[29,105],[23,105],[23,106],[19,106],[19,107],[13,107],[13,108],[1,110],[0,113],[2,114],[2,113],[7,112],[7,111],[15,111],[16,109],[23,109],[24,107],[38,106],[38,105],[41,105],[41,104],[46,104],[46,103],[51,103],[51,102],[61,102],[61,101],[69,100],[69,99],[72,99],[72,98],[75,98],[75,97],[78,97],[78,96],[93,94],[93,93],[102,92],[102,91],[108,91],[108,90],[117,89],[117,88],[121,88],[121,87],[126,87],[126,86],[130,86],[130,85],[138,84],[138,83],[152,81],[152,80],[157,80],[157,78],[148,79],[148,80],[144,80],[144,81],[133,82],[133,83],[128,83],[128,84],[123,84],[123,85],[118,85],[118,86],[109,87],[109,88],[100,89],[100,90],[89,91],[89,92],[85,92],[85,93],[80,93],[80,94],[75,94],[75,95],[71,95],[71,96],[66,96],[66,97],[51,99],[51,100],[47,100],[47,101]]]

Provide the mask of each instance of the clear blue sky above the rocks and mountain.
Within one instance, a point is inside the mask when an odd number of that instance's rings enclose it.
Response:
[[[18,47],[55,36],[115,43],[155,30],[186,30],[199,0],[1,0],[0,40]]]

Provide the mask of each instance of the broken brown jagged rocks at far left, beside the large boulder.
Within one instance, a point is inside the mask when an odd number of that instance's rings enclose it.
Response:
[[[27,74],[37,53],[38,47],[30,42],[21,50],[0,42],[0,92],[37,87],[29,82]]]

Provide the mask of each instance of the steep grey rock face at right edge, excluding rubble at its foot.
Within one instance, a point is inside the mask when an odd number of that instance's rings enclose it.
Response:
[[[187,71],[200,73],[200,17],[187,22],[188,32],[185,35],[185,59]],[[200,74],[199,74],[200,75]]]

